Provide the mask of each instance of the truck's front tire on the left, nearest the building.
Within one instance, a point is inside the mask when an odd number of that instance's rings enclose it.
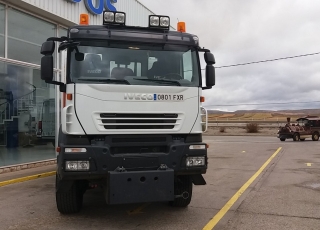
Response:
[[[56,176],[56,183],[59,179]],[[77,213],[81,210],[83,203],[83,191],[76,181],[66,192],[56,192],[56,204],[58,211],[62,214]]]

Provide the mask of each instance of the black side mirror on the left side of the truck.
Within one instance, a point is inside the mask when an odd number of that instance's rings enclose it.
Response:
[[[41,46],[41,79],[47,83],[53,80],[53,52],[55,50],[54,41],[46,41]]]

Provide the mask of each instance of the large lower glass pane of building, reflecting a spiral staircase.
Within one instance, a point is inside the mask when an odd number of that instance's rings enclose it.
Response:
[[[42,85],[39,69],[0,70],[0,167],[55,158],[54,86]]]

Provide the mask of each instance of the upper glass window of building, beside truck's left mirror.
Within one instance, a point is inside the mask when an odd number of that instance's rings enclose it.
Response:
[[[8,58],[40,64],[41,45],[56,36],[54,24],[15,9],[8,10]]]

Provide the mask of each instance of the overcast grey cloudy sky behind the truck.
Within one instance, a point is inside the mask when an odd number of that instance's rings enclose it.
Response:
[[[317,0],[139,1],[175,28],[184,21],[215,67],[320,52]],[[320,54],[216,68],[216,85],[203,95],[211,110],[320,108]]]

